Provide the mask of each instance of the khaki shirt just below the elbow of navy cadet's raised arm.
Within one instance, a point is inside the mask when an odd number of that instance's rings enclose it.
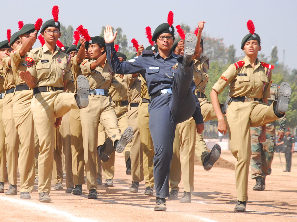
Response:
[[[109,94],[113,101],[128,100],[127,90],[124,87],[124,79],[122,79],[119,74],[113,75],[110,84]]]

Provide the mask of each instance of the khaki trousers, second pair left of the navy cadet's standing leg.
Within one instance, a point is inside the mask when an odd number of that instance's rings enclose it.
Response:
[[[128,126],[132,127],[134,135],[131,141],[131,175],[133,182],[144,180],[143,176],[143,151],[140,144],[140,134],[138,130],[138,107],[128,106]]]

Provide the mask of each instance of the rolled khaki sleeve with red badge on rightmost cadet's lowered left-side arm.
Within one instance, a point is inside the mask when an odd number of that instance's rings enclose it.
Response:
[[[235,65],[232,64],[221,75],[221,77],[214,84],[214,86],[212,87],[212,89],[214,89],[218,94],[220,94],[225,89],[225,87],[228,86],[228,84],[230,82],[232,82],[234,78],[236,78],[236,75],[237,75],[236,67],[235,67]]]

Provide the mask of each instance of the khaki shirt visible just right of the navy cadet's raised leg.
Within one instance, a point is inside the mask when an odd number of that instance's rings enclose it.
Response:
[[[196,84],[195,94],[205,92],[206,83],[208,82],[208,58],[203,56],[200,60],[194,59],[193,79]]]

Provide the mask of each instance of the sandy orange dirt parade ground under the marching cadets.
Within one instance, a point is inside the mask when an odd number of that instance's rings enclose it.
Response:
[[[285,168],[285,155],[280,154]],[[167,211],[153,210],[156,196],[143,196],[144,182],[138,193],[129,193],[131,176],[126,175],[124,156],[116,153],[113,187],[98,186],[98,200],[87,199],[87,185],[83,195],[75,196],[52,189],[51,203],[39,203],[37,185],[31,200],[0,194],[0,215],[5,221],[297,221],[297,153],[293,154],[291,172],[283,172],[279,153],[275,153],[272,174],[266,177],[265,191],[253,191],[255,180],[249,177],[247,212],[234,213],[236,188],[234,163],[230,151],[222,151],[222,158],[210,170],[195,163],[195,191],[192,203],[166,200]],[[19,180],[19,178],[18,178]],[[104,184],[104,178],[103,178]],[[63,183],[65,186],[65,184]],[[5,190],[8,182],[5,183]],[[18,183],[19,189],[19,183]],[[183,194],[180,184],[179,198]]]

